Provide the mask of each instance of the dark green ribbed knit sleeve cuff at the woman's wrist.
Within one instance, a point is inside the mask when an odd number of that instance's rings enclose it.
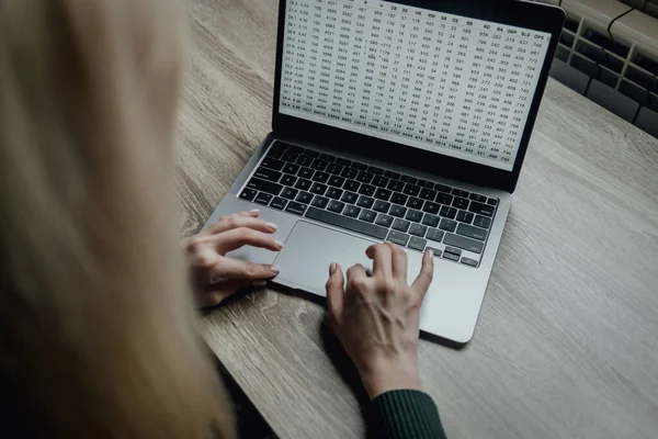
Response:
[[[372,428],[383,439],[445,439],[436,405],[427,393],[386,392],[372,402]]]

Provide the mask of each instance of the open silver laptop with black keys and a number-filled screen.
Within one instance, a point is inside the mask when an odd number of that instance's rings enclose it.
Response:
[[[212,214],[260,209],[272,280],[324,296],[329,266],[393,241],[434,255],[421,331],[468,342],[564,11],[525,1],[281,0],[272,133]]]

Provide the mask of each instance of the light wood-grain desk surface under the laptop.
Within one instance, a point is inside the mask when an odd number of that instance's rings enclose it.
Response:
[[[184,229],[200,229],[270,128],[277,1],[188,0]],[[658,140],[551,81],[475,338],[420,344],[450,438],[658,437]],[[324,308],[262,291],[204,337],[282,438],[355,438]]]

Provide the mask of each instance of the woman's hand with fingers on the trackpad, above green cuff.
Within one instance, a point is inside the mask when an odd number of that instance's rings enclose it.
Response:
[[[392,390],[420,390],[419,313],[432,282],[432,255],[424,254],[411,286],[407,284],[407,254],[400,247],[373,245],[366,255],[374,260],[372,277],[356,264],[348,270],[347,289],[341,268],[331,264],[329,325],[354,361],[371,398]]]

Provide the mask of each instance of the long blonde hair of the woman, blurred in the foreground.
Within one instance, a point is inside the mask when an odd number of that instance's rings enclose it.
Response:
[[[0,376],[48,437],[234,437],[178,239],[182,27],[173,0],[0,2]]]

